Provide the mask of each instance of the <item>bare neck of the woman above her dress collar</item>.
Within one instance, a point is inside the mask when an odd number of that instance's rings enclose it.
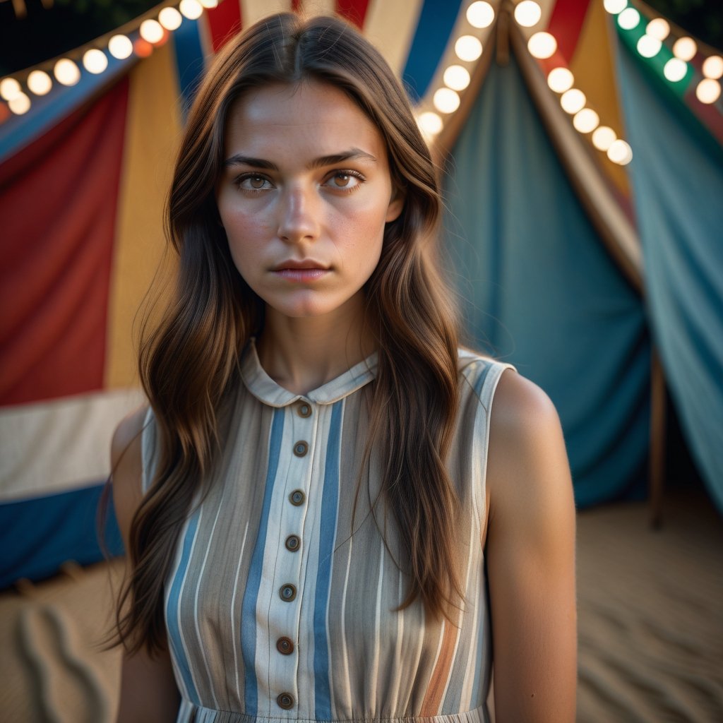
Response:
[[[321,317],[292,318],[266,309],[257,339],[259,361],[281,387],[306,394],[375,351],[364,309],[356,304]]]

